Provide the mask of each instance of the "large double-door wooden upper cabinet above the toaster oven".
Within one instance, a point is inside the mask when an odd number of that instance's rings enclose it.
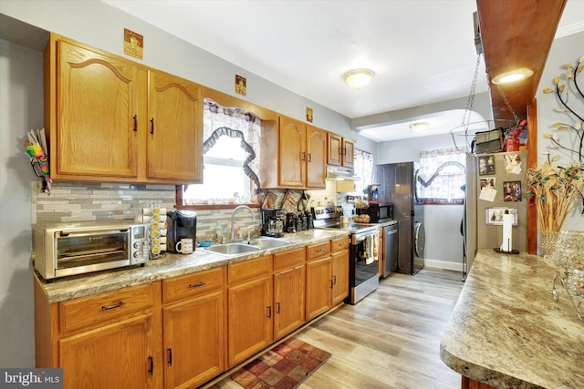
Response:
[[[45,53],[51,178],[200,182],[202,98],[202,87],[182,78],[51,34]]]

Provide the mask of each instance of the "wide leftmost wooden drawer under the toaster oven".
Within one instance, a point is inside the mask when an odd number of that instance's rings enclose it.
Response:
[[[118,322],[152,307],[151,284],[81,297],[59,303],[62,333]]]

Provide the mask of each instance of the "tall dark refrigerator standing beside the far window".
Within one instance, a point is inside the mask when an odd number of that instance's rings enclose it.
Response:
[[[378,165],[380,201],[393,204],[393,220],[398,222],[397,271],[415,274],[424,265],[423,209],[416,200],[417,164],[414,162]]]

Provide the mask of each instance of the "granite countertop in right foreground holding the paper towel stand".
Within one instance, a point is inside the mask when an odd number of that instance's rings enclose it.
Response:
[[[528,254],[482,250],[443,333],[440,357],[497,388],[584,387],[584,322],[558,289],[555,268]]]

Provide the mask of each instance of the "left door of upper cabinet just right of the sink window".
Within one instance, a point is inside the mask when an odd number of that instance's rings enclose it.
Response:
[[[307,133],[304,123],[280,116],[279,185],[285,188],[306,186]]]

